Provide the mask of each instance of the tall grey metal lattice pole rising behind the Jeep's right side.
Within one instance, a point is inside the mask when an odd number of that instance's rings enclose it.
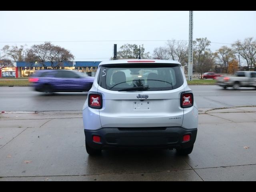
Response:
[[[193,75],[193,11],[189,11],[189,41],[188,41],[188,80]]]

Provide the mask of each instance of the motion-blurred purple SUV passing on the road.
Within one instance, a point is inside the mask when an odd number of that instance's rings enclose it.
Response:
[[[39,70],[31,78],[39,92],[83,92],[92,87],[94,77],[72,70]]]

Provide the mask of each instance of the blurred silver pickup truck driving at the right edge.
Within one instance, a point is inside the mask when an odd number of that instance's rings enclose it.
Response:
[[[254,87],[256,88],[256,71],[237,71],[234,76],[218,77],[217,85],[222,86],[224,89],[233,87]]]

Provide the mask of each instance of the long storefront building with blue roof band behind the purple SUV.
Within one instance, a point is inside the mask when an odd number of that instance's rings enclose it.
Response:
[[[52,69],[51,62],[44,62],[44,65],[41,63],[30,63],[30,62],[12,62],[12,66],[4,67],[0,69],[0,78],[6,77],[29,77],[34,74],[37,70]],[[66,70],[77,70],[84,72],[89,76],[95,76],[97,68],[100,64],[100,61],[71,61],[71,62],[62,62],[58,69]],[[57,64],[54,63],[54,66]],[[45,66],[45,67],[44,67]]]

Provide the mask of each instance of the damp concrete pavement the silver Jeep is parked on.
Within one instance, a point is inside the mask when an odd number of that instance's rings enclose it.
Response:
[[[88,156],[81,111],[0,114],[0,181],[255,181],[256,107],[199,109],[193,152]]]

